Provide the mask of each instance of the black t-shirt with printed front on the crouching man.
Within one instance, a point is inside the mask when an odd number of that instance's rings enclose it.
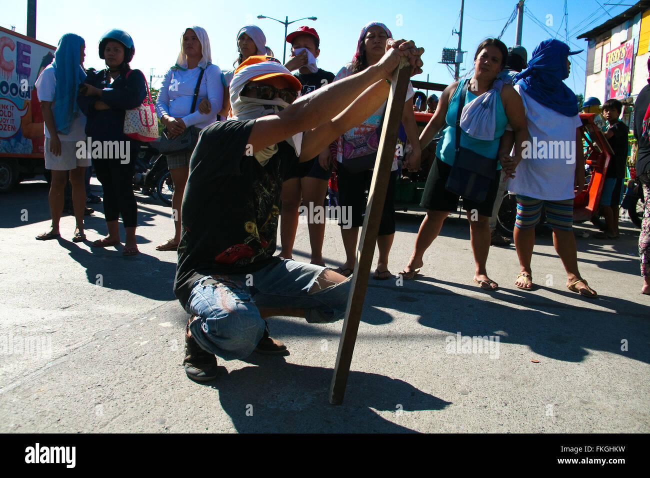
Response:
[[[254,120],[216,122],[201,131],[181,207],[174,293],[185,306],[192,285],[211,274],[248,274],[276,252],[280,191],[298,161],[283,141],[262,166],[246,155]]]

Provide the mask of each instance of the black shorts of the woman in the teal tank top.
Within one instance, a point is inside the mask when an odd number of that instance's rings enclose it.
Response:
[[[443,163],[442,159],[435,157],[434,165],[429,171],[429,176],[426,178],[426,185],[424,192],[422,192],[421,207],[426,207],[430,211],[456,211],[458,209],[458,200],[460,196],[450,193],[445,188],[447,178],[451,171],[451,166]],[[476,209],[479,215],[491,217],[492,207],[497,199],[497,191],[499,190],[499,180],[501,178],[501,171],[497,171],[497,177],[493,179],[487,191],[486,200],[484,202],[474,202],[472,200],[463,198],[463,209],[465,211],[472,211]]]

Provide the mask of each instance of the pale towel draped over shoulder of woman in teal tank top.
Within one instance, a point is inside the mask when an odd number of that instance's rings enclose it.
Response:
[[[460,127],[469,137],[492,141],[497,129],[497,103],[501,101],[503,81],[495,79],[492,88],[465,103],[460,116]]]

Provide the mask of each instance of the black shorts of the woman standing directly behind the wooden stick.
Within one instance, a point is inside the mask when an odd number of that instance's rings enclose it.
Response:
[[[351,218],[353,228],[363,226],[363,215],[366,209],[366,191],[370,190],[372,170],[350,172],[339,163],[337,172],[339,182],[339,206],[350,207],[347,217]],[[397,171],[391,172],[386,191],[386,200],[383,202],[382,221],[379,224],[377,235],[391,235],[395,233],[395,182]],[[345,226],[339,222],[339,226]]]

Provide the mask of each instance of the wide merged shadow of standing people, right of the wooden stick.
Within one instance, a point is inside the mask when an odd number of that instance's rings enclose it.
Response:
[[[411,284],[391,287],[402,296],[399,310],[419,315],[418,322],[430,328],[450,334],[461,332],[463,336],[490,336],[499,332],[503,343],[527,345],[537,354],[565,362],[580,362],[591,349],[650,363],[648,308],[629,300],[601,295],[589,304],[608,310],[595,310],[573,305],[574,293],[555,289],[548,290],[558,295],[557,300],[524,291],[489,294],[490,299],[499,299],[497,302],[443,288],[447,285],[474,291],[476,287],[471,285],[441,280]],[[395,308],[395,293],[383,291],[369,297],[373,306]],[[411,300],[404,300],[405,297]],[[621,341],[627,347],[622,347]]]

